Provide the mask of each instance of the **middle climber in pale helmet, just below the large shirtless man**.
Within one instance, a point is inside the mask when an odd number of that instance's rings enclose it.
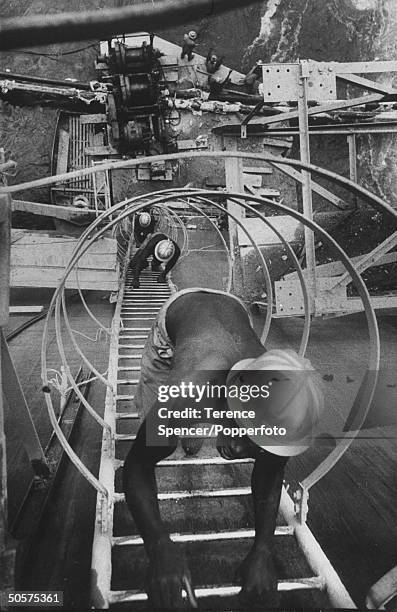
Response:
[[[148,258],[152,257],[153,272],[161,271],[157,278],[158,283],[165,283],[167,274],[175,266],[181,254],[180,248],[174,240],[166,234],[155,233],[147,236],[146,240],[136,251],[130,262],[132,271],[132,286],[139,288],[139,276],[148,265]],[[164,269],[162,269],[164,264]]]

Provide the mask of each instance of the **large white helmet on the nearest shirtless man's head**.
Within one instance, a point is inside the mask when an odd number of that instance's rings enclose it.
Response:
[[[308,359],[290,349],[274,349],[237,362],[227,385],[238,389],[233,394],[229,390],[229,408],[237,414],[242,408],[252,411],[252,418],[235,417],[252,442],[282,457],[300,455],[309,448],[316,437],[324,397]],[[260,395],[250,394],[257,388]]]

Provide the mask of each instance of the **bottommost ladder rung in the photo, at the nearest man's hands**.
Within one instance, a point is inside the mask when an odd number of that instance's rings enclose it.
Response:
[[[288,580],[279,580],[277,584],[278,591],[303,591],[303,590],[323,590],[324,580],[318,576],[312,578],[289,578]],[[233,597],[241,591],[240,586],[225,585],[225,586],[205,586],[194,589],[198,599],[204,597]],[[187,595],[182,590],[182,595],[186,599]],[[110,591],[109,602],[128,603],[136,601],[146,601],[147,595],[143,591]]]

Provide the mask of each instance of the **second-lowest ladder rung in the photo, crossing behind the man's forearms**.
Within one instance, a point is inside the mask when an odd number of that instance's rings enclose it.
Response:
[[[276,527],[274,535],[293,535],[291,525]],[[235,531],[211,531],[207,533],[171,533],[173,542],[216,542],[218,540],[242,540],[255,537],[255,529],[236,529]],[[113,546],[141,546],[143,539],[138,535],[113,538]]]

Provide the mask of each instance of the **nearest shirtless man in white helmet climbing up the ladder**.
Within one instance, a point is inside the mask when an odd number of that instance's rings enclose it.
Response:
[[[230,390],[227,399],[208,391],[217,385]],[[207,389],[202,404],[186,395],[189,388]],[[232,394],[232,388],[241,396]],[[258,388],[263,396],[246,403],[247,388],[252,398]],[[266,388],[270,389],[267,396]],[[274,606],[273,536],[284,468],[289,456],[310,445],[322,408],[322,393],[310,362],[290,350],[266,352],[238,298],[221,291],[186,289],[169,298],[149,334],[136,406],[145,420],[124,464],[123,488],[149,557],[146,584],[151,609],[182,608],[182,589],[191,593],[190,602],[195,603],[183,551],[170,539],[160,516],[155,465],[175,451],[178,432],[189,428],[184,435],[191,435],[190,429],[200,424],[200,435],[203,422],[218,427],[216,445],[223,458],[255,460],[255,538],[240,567],[240,598],[244,610]],[[195,410],[189,410],[192,406]],[[255,416],[248,417],[252,407]],[[255,428],[251,431],[248,426]],[[250,435],[232,435],[242,427]],[[161,433],[164,428],[171,431],[167,438]],[[273,435],[258,433],[261,428]],[[276,430],[286,433],[276,435]]]

